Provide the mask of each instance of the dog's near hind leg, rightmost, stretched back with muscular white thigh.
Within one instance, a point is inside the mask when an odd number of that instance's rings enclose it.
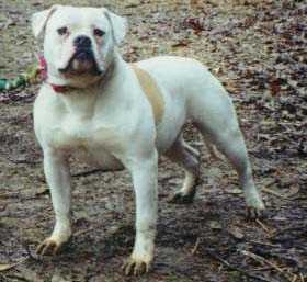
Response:
[[[257,217],[264,204],[253,183],[252,170],[242,133],[231,100],[224,88],[216,84],[203,95],[195,95],[191,115],[204,138],[216,145],[236,169],[245,192],[249,215]]]

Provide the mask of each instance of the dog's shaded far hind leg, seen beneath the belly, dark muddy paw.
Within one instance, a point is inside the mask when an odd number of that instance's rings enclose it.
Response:
[[[180,136],[166,154],[167,157],[184,169],[185,178],[182,188],[169,200],[170,203],[192,203],[200,176],[200,153],[187,145]]]

